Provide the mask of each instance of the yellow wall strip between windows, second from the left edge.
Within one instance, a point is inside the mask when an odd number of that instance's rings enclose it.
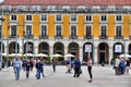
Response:
[[[25,15],[23,14],[19,14],[17,15],[17,34],[19,37],[23,37],[24,36],[24,32],[25,32]]]

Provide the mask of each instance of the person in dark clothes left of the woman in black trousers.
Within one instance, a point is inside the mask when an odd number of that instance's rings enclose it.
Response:
[[[76,58],[76,59],[74,59],[74,75],[73,75],[73,77],[80,76],[80,69],[81,69],[81,62],[80,62],[80,59]]]

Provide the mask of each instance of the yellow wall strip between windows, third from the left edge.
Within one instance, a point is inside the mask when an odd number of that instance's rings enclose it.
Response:
[[[34,37],[39,37],[39,29],[40,29],[39,17],[40,17],[40,15],[38,15],[38,14],[33,15],[33,34],[34,34]]]

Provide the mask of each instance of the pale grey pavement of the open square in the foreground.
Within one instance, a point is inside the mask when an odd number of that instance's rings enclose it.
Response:
[[[12,67],[0,71],[0,87],[131,87],[131,70],[130,75],[116,76],[112,66],[94,65],[93,83],[90,79],[87,67],[82,66],[81,76],[73,77],[73,74],[66,74],[66,66],[57,66],[57,72],[52,72],[51,66],[45,66],[46,77],[36,79],[36,71],[31,72],[28,79],[25,78],[25,72],[21,71],[20,80],[14,79]]]

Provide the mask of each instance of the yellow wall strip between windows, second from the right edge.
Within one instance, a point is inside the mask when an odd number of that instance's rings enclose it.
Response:
[[[115,36],[115,15],[108,15],[108,24],[107,24],[107,28],[108,28],[108,37],[114,38]]]

